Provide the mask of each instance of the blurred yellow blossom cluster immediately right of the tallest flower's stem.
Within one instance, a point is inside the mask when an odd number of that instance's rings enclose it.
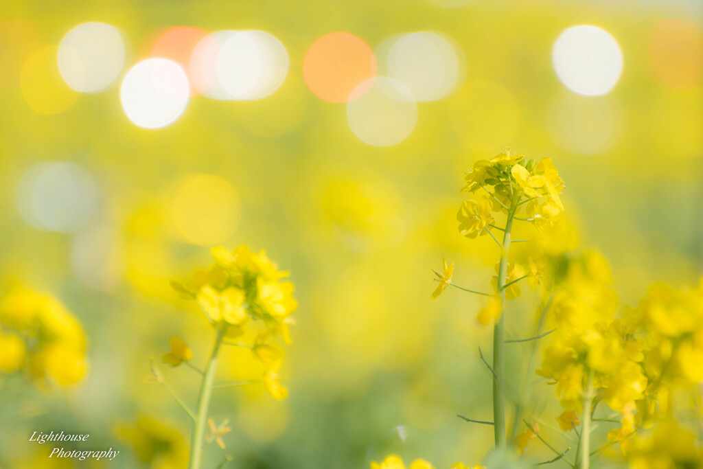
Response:
[[[560,262],[563,273],[556,279],[548,311],[556,332],[543,349],[537,373],[555,385],[564,409],[557,418],[562,430],[576,428],[582,413],[602,401],[621,415],[621,427],[608,438],[623,442],[633,435],[633,412],[647,388],[644,344],[635,323],[614,319],[617,294],[605,257],[587,251]]]

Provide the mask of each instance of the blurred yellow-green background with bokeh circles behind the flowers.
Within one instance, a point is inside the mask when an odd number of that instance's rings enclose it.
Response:
[[[233,431],[208,467],[232,454],[240,468],[363,468],[389,451],[478,463],[492,432],[455,415],[490,416],[475,352],[490,332],[470,295],[430,300],[430,268],[444,256],[457,283],[490,288],[498,250],[462,238],[455,216],[465,168],[505,146],[553,158],[580,244],[610,259],[623,304],[653,281],[697,283],[698,1],[1,10],[0,296],[57,297],[90,362],[67,387],[4,378],[3,467],[179,467],[188,418],[143,378],[171,335],[196,364],[212,339],[169,278],[240,244],[292,272],[290,397],[217,392]],[[259,373],[238,352],[222,363],[223,379]],[[194,401],[197,375],[164,372]],[[27,442],[34,430],[122,452],[58,463]]]

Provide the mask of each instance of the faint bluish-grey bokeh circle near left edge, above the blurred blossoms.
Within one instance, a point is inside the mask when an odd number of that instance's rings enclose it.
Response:
[[[27,171],[15,193],[22,219],[36,229],[70,233],[91,217],[98,191],[83,167],[45,162]]]

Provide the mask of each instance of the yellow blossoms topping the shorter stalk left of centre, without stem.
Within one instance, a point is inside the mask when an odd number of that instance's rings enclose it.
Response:
[[[292,296],[293,284],[282,281],[289,273],[280,271],[263,250],[258,254],[241,245],[230,251],[212,249],[215,262],[205,269],[196,269],[187,281],[172,281],[173,287],[198,303],[216,328],[224,330],[227,340],[237,340],[245,330],[255,331],[250,348],[264,366],[262,381],[275,399],[288,396],[280,384],[278,371],[283,361],[283,348],[272,341],[282,336],[290,344],[290,317],[297,308]],[[191,359],[192,352],[179,338],[172,338],[171,351],[164,361],[177,366]]]

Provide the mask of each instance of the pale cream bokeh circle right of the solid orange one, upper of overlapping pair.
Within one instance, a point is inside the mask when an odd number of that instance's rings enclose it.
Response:
[[[406,85],[417,101],[445,98],[459,84],[463,60],[450,39],[435,32],[401,34],[388,40],[382,75]]]

